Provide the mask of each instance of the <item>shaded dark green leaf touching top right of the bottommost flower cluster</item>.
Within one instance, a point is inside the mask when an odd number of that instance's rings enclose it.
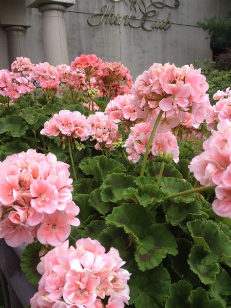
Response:
[[[107,251],[111,247],[116,248],[122,259],[127,259],[128,254],[131,253],[131,247],[128,249],[128,235],[121,228],[107,227],[98,235],[97,240]]]

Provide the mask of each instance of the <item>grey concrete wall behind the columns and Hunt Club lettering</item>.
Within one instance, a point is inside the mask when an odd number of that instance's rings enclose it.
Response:
[[[132,15],[131,0],[76,0],[76,4],[65,13],[69,59],[72,61],[80,54],[94,53],[107,61],[121,61],[128,66],[134,78],[149,68],[153,62],[174,62],[184,65],[194,59],[203,61],[212,57],[210,39],[197,26],[197,21],[214,15],[225,17],[231,9],[230,0],[180,0],[177,8],[159,10],[159,18],[166,19],[171,13],[172,25],[168,30],[154,29],[145,31],[129,25],[105,24],[90,26],[87,19],[100,13],[103,5],[115,5],[115,14]],[[150,0],[144,0],[151,3]],[[138,1],[137,1],[138,2]],[[162,0],[163,2],[163,0]],[[174,0],[166,0],[173,5]],[[137,4],[136,4],[137,7]],[[38,9],[27,9],[27,17],[32,25],[26,32],[28,55],[34,63],[45,61],[42,40],[42,21]],[[142,14],[136,13],[134,24],[139,25]],[[150,18],[152,20],[152,18]],[[145,23],[151,28],[152,21]],[[7,40],[0,29],[0,67],[7,67]]]

